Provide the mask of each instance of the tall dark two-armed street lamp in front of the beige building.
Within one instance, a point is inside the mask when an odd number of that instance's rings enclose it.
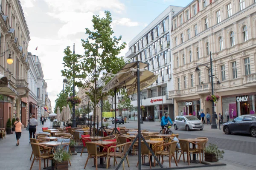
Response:
[[[200,71],[200,69],[198,68],[198,65],[203,65],[203,66],[205,66],[205,67],[207,67],[208,69],[209,69],[209,71],[211,72],[211,87],[212,87],[212,95],[214,95],[214,93],[213,93],[213,76],[215,76],[215,75],[213,75],[212,74],[212,52],[210,52],[210,67],[208,66],[208,65],[204,65],[204,64],[199,64],[199,63],[196,63],[196,68],[195,68],[195,71],[196,72],[199,72]],[[218,78],[217,77],[215,77],[217,80],[218,80]],[[219,82],[219,80],[217,81],[217,85],[219,85],[219,84],[221,84],[220,82]],[[216,125],[216,122],[215,122],[215,114],[214,114],[214,101],[212,101],[212,129],[217,129],[217,125]]]

